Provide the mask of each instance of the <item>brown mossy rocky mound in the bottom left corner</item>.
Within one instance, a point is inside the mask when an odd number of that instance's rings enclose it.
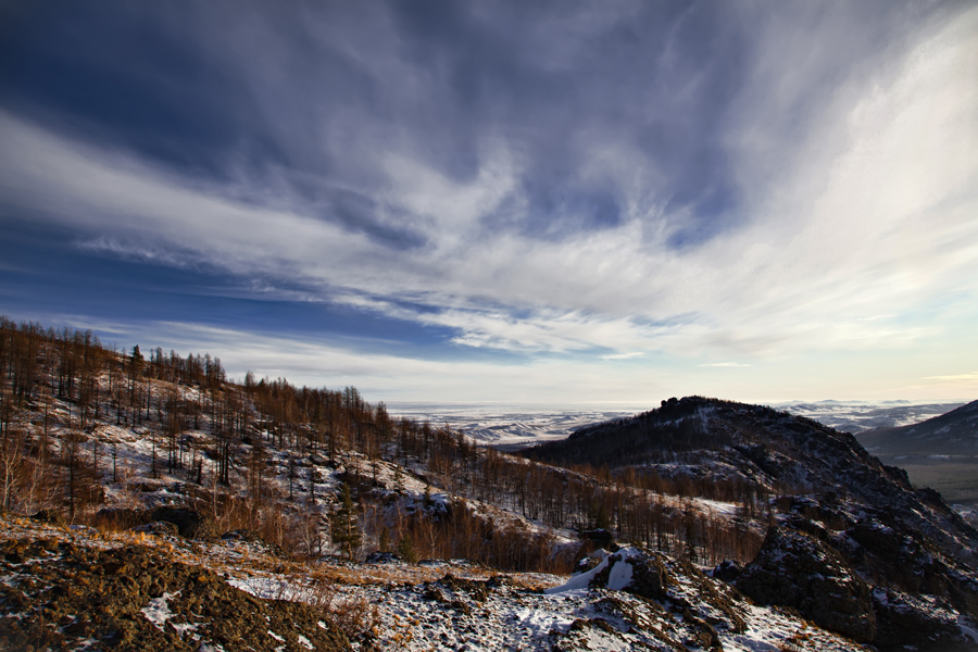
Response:
[[[0,556],[2,650],[350,649],[311,606],[260,600],[150,548],[16,540]]]

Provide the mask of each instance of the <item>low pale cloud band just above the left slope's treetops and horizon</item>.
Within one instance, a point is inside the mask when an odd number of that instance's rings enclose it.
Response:
[[[289,338],[186,322],[141,324],[87,321],[82,315],[51,316],[125,339],[124,348],[174,349],[216,356],[231,377],[250,369],[258,377],[285,377],[293,384],[339,388],[355,385],[368,400],[543,401],[559,404],[606,400],[595,397],[595,384],[615,401],[641,406],[648,393],[664,393],[657,383],[607,371],[597,362],[563,360],[505,365],[487,361],[438,361],[378,353],[365,342]],[[404,383],[404,378],[411,379]]]

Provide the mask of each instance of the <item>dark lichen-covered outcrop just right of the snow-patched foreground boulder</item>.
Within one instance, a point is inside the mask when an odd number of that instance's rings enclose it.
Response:
[[[869,586],[815,537],[772,527],[737,588],[762,604],[797,609],[817,625],[860,642],[876,638]]]

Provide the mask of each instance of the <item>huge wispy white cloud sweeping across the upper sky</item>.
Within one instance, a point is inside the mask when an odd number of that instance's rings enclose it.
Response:
[[[978,303],[978,11],[701,7],[215,3],[174,34],[234,89],[208,97],[241,145],[175,165],[7,109],[0,201],[91,252],[459,348],[725,360],[956,331]]]

